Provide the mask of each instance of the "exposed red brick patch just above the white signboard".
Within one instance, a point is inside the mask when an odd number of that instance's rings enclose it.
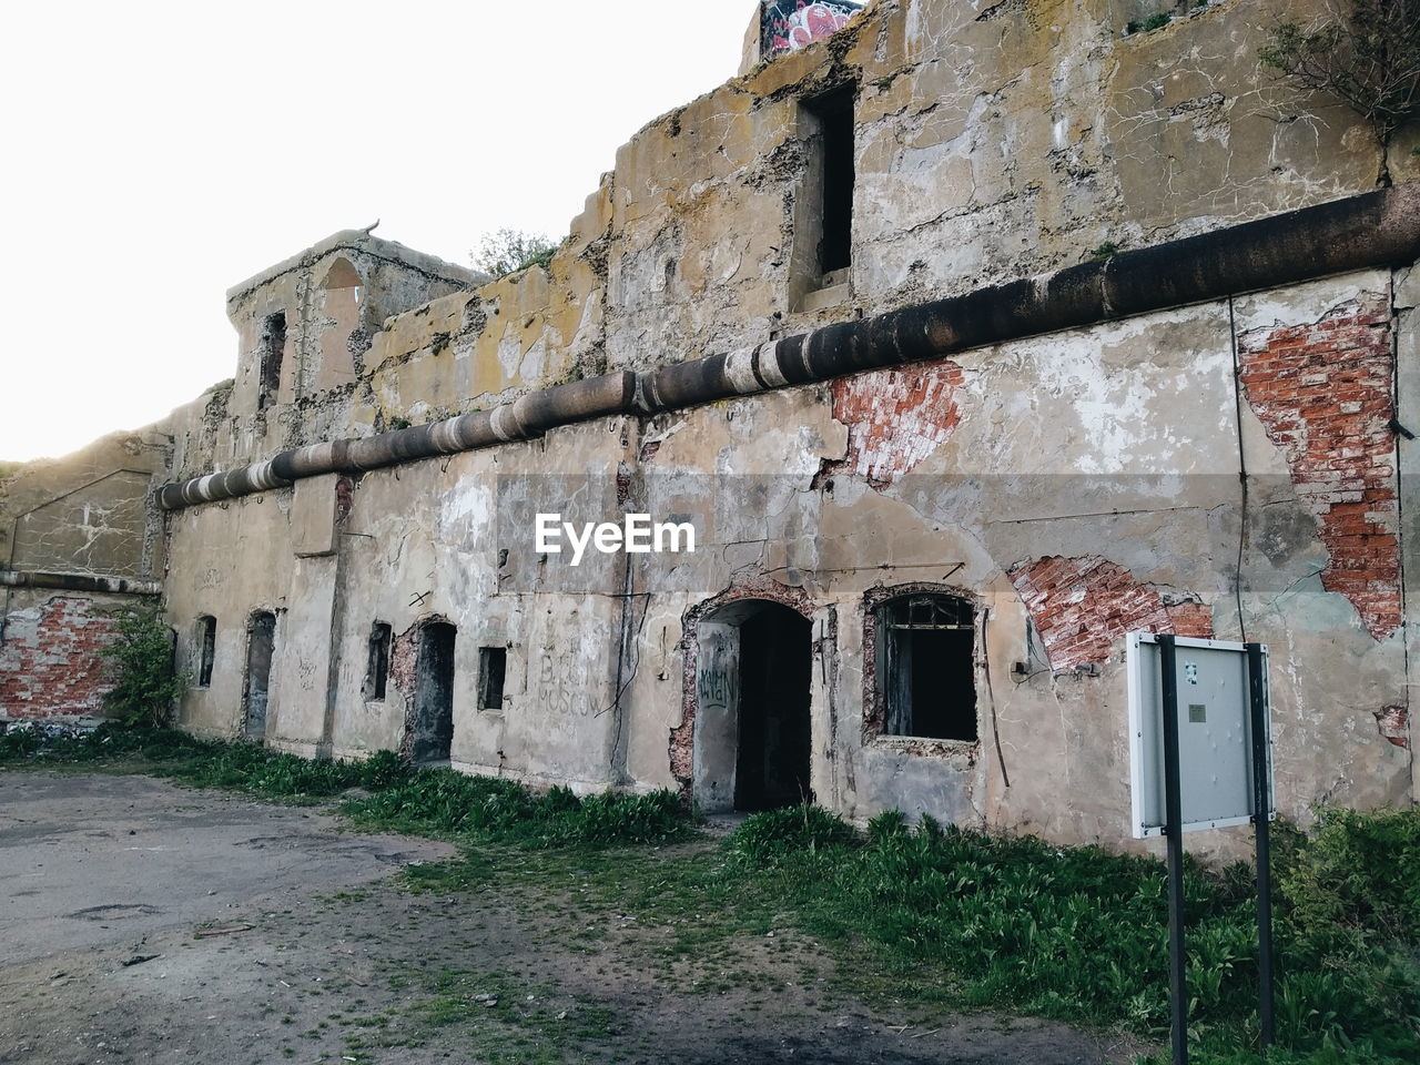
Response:
[[[1213,612],[1204,604],[1170,606],[1153,585],[1099,555],[1020,562],[1007,575],[1052,669],[1105,662],[1115,640],[1129,632],[1213,638]]]

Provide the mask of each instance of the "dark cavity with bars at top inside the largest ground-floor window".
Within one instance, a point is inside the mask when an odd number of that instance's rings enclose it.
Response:
[[[888,736],[977,738],[976,616],[953,595],[907,595],[878,608],[878,692]]]

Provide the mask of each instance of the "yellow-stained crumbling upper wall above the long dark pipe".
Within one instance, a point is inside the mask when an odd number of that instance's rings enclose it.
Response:
[[[417,264],[425,273],[392,266],[413,254],[403,248],[372,257],[324,241],[234,288],[243,366],[226,410],[179,416],[178,471],[727,352],[1079,263],[1103,244],[1367,190],[1379,153],[1362,121],[1257,62],[1265,27],[1311,7],[1321,0],[1220,0],[1126,34],[1140,17],[1132,0],[880,0],[831,40],[648,124],[547,270],[474,287],[436,260]],[[812,199],[801,101],[845,81],[859,85],[853,264],[848,288],[808,312],[794,295],[808,284],[795,273],[795,220]],[[1416,136],[1397,138],[1396,180],[1420,173]],[[335,372],[339,338],[320,285],[339,256],[368,280],[369,349]],[[442,281],[429,288],[427,274]],[[288,355],[280,400],[258,416],[260,331],[275,310],[291,318]]]

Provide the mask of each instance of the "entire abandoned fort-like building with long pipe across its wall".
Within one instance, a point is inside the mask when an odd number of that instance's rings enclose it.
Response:
[[[1322,4],[784,7],[547,268],[337,233],[0,488],[0,714],[160,596],[203,736],[1125,846],[1126,633],[1245,636],[1282,814],[1414,802],[1420,131],[1260,67]]]

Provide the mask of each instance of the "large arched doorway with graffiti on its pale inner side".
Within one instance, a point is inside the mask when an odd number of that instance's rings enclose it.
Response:
[[[812,623],[767,599],[741,599],[697,626],[693,794],[706,812],[812,798]]]

